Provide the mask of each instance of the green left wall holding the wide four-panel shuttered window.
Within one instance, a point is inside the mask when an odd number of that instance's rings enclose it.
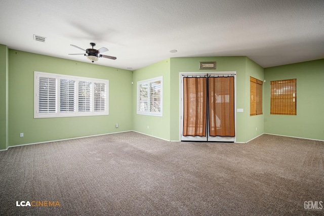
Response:
[[[9,65],[10,146],[132,130],[131,71],[16,50]],[[108,79],[109,115],[34,119],[34,71]]]

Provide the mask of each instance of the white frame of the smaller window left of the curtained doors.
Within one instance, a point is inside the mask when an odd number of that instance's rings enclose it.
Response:
[[[141,111],[140,110],[140,85],[143,85],[143,84],[147,84],[149,87],[151,85],[151,83],[153,82],[157,82],[159,81],[160,82],[160,101],[159,101],[159,104],[160,104],[160,109],[159,109],[159,112],[152,112],[152,111]],[[151,104],[151,95],[148,94],[148,101],[147,101],[147,104],[148,104],[148,109],[150,109],[150,104]],[[151,78],[151,79],[145,79],[145,80],[141,80],[141,81],[138,81],[137,82],[137,114],[140,114],[140,115],[151,115],[151,116],[163,116],[163,76],[159,76],[159,77],[155,77],[155,78]]]

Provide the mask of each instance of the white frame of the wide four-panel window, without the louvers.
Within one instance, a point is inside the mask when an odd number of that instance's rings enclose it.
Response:
[[[56,109],[53,112],[39,112],[39,77],[48,77],[48,78],[55,78],[56,79]],[[61,79],[68,79],[75,81],[74,84],[74,111],[69,112],[61,112],[60,111],[60,80]],[[78,83],[79,81],[87,81],[91,82],[91,100],[90,100],[90,109],[88,111],[79,111],[78,108],[78,100],[79,100],[79,93],[78,93]],[[101,106],[105,107],[99,108],[95,110],[95,83],[104,84],[105,89],[102,94],[104,97],[104,101],[100,100]],[[96,115],[108,115],[109,114],[109,80],[107,79],[96,79],[96,78],[88,78],[88,77],[80,77],[80,76],[70,76],[70,75],[62,75],[62,74],[54,74],[54,73],[45,73],[34,71],[34,118],[52,118],[52,117],[72,117],[72,116],[96,116]],[[72,91],[73,92],[73,91]],[[98,96],[98,94],[97,94]]]

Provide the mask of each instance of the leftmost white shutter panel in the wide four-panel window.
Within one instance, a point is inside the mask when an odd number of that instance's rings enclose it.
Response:
[[[56,112],[56,78],[38,78],[38,112]]]

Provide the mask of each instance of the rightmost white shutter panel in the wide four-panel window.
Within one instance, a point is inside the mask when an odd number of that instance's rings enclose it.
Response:
[[[106,83],[94,83],[94,111],[102,112],[107,109],[107,88]]]

